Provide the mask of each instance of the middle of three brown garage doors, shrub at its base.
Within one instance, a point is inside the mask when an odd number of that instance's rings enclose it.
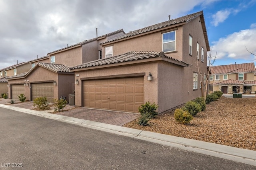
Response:
[[[46,97],[48,102],[53,102],[53,82],[31,84],[32,101],[38,97]]]

